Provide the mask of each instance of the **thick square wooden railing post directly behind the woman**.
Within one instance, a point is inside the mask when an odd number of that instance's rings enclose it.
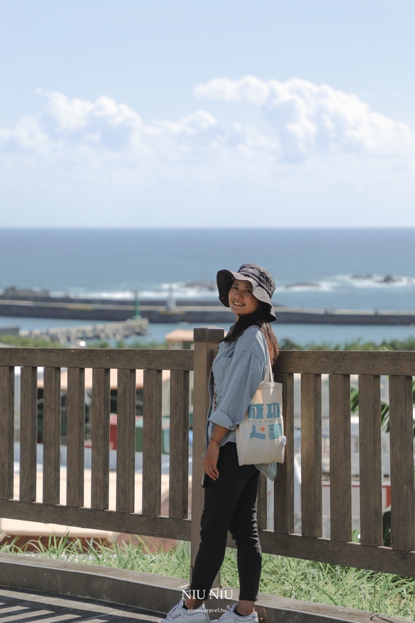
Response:
[[[201,515],[203,511],[203,453],[208,417],[209,378],[212,351],[223,340],[223,329],[194,329],[194,390],[193,390],[193,451],[192,451],[192,530],[190,575],[199,549]]]

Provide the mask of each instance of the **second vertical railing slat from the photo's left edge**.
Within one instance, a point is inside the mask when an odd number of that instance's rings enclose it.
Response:
[[[21,502],[36,500],[37,368],[20,373],[20,484]]]

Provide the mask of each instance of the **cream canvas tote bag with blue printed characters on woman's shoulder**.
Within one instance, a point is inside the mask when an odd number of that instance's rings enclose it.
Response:
[[[269,352],[266,381],[255,392],[235,435],[239,465],[284,462],[282,383],[273,381]]]

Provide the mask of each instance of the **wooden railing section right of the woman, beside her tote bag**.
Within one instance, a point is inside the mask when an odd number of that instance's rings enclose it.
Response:
[[[301,374],[302,534],[294,528],[294,383]],[[322,538],[321,375],[329,374],[331,536]],[[350,375],[358,374],[360,543],[351,543]],[[391,548],[383,547],[380,375],[389,375]],[[275,480],[275,528],[263,530],[272,554],[415,576],[414,352],[282,352],[286,461]],[[264,504],[261,509],[264,526]]]

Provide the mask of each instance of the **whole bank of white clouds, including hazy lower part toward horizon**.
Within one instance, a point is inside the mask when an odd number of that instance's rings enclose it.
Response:
[[[188,210],[194,224],[201,224],[195,205],[205,206],[208,223],[211,204],[220,218],[228,212],[239,217],[245,208],[250,213],[255,205],[275,219],[272,206],[284,206],[285,224],[292,218],[286,208],[304,204],[308,210],[310,202],[328,210],[346,197],[356,206],[359,196],[386,206],[399,196],[412,205],[412,129],[326,85],[295,78],[215,79],[194,89],[211,110],[151,123],[108,96],[89,101],[41,94],[41,115],[0,127],[3,205],[5,197],[19,196],[19,205],[37,197],[40,206],[42,197],[76,197],[83,218],[91,192],[98,193],[100,205],[112,197],[117,206],[122,193],[125,205],[140,198],[154,206],[145,214],[154,225],[160,224],[156,206],[168,212],[172,201]],[[221,120],[215,101],[227,102],[228,120]],[[243,115],[240,102],[246,102]]]

